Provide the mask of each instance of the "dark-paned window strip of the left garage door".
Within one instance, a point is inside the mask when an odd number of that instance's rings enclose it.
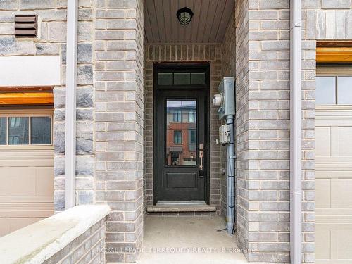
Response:
[[[51,145],[50,115],[0,116],[0,145]]]

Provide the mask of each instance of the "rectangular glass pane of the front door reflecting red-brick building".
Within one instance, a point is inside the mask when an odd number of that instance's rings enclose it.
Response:
[[[196,165],[196,134],[196,100],[167,100],[167,165]]]

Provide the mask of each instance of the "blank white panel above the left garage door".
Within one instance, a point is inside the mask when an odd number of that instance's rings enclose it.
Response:
[[[60,56],[1,56],[0,86],[60,84]]]

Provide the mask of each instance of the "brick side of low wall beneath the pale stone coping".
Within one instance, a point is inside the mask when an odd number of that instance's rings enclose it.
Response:
[[[45,260],[43,264],[60,263],[94,263],[102,264],[105,262],[105,218],[90,227],[86,232],[71,241],[70,244]]]

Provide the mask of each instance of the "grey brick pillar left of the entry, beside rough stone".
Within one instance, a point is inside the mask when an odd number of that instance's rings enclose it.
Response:
[[[143,1],[96,1],[94,30],[96,202],[111,206],[108,248],[143,236]],[[134,262],[135,253],[106,253]]]

